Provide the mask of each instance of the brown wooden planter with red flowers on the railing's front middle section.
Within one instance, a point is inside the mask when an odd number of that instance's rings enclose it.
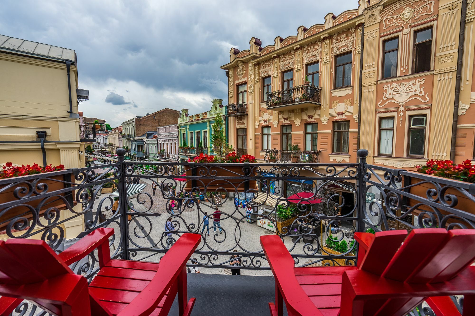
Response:
[[[188,159],[188,162],[207,163],[207,166],[185,166],[186,176],[198,176],[197,179],[188,180],[185,190],[190,191],[193,187],[203,188],[209,192],[235,191],[245,192],[256,189],[256,180],[243,180],[242,177],[251,175],[250,167],[226,166],[224,164],[256,163],[256,158],[251,155],[239,157],[235,151],[229,152],[224,158],[211,155],[203,155]],[[228,178],[235,177],[235,178]]]

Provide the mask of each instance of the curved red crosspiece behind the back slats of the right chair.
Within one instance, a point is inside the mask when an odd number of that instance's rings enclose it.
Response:
[[[348,270],[342,277],[344,295],[352,299],[382,299],[398,297],[438,297],[475,294],[475,266],[467,267],[447,282],[414,284],[381,278],[363,270]],[[348,296],[345,297],[348,300]]]

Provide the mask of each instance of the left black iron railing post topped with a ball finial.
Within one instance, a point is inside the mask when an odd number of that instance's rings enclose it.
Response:
[[[127,238],[127,183],[125,181],[125,163],[124,163],[124,156],[125,156],[125,149],[123,148],[118,148],[115,150],[115,153],[118,156],[119,159],[119,168],[120,168],[120,177],[119,177],[119,183],[118,186],[120,186],[119,189],[119,205],[120,209],[119,212],[121,214],[120,217],[120,224],[121,224],[121,238],[122,238],[122,250],[123,250],[123,259],[129,260],[129,240]]]

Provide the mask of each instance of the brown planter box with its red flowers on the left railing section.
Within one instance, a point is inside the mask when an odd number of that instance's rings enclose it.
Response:
[[[30,196],[37,196],[45,193],[45,191],[54,192],[70,187],[68,183],[74,185],[73,174],[61,170],[64,170],[63,165],[41,167],[35,163],[31,166],[17,167],[13,166],[11,162],[7,162],[0,171],[0,179],[9,179],[10,181],[3,181],[4,184],[0,185],[0,204],[18,200],[21,204],[28,204],[31,207],[38,208],[38,205],[42,203],[41,209],[37,214],[38,217],[51,207],[56,207],[59,210],[64,210],[67,206],[73,207],[77,204],[74,190],[58,193],[49,198],[33,200],[31,202],[23,202],[16,197],[17,194],[20,196],[26,196],[28,194],[30,194]],[[44,175],[40,177],[29,177],[36,174]],[[15,193],[16,190],[19,191]],[[23,190],[26,191],[23,192]],[[68,200],[68,203],[65,202],[65,199]],[[9,212],[0,215],[0,230],[3,230],[10,223],[10,220],[17,216],[24,217],[28,220],[33,218],[32,211],[27,206],[14,207]]]

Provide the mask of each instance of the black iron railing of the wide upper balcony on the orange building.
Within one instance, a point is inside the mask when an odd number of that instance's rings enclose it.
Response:
[[[289,89],[268,92],[266,95],[266,104],[268,107],[301,102],[315,102],[320,104],[322,88],[313,84],[304,84]]]

